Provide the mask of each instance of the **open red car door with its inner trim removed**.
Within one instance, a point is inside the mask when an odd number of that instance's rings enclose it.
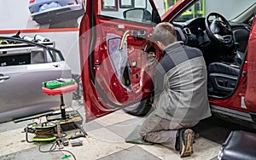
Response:
[[[160,57],[148,54],[157,52],[150,33],[160,15],[153,0],[125,2],[86,3],[79,43],[87,121],[150,100]]]

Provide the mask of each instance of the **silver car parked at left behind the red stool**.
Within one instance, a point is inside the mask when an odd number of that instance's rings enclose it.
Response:
[[[0,43],[0,123],[60,109],[60,97],[42,91],[45,81],[71,77],[61,51],[52,48],[54,43],[15,37],[0,37]],[[71,106],[72,94],[64,98]]]

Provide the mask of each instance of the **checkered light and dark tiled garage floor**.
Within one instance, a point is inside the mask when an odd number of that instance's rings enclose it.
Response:
[[[84,107],[73,101],[73,110],[84,116]],[[71,151],[78,160],[84,159],[181,159],[177,151],[172,151],[160,145],[135,145],[125,143],[125,138],[131,131],[143,123],[143,117],[133,117],[124,111],[116,111],[106,117],[84,124],[84,129],[89,134],[90,142],[84,138],[83,146],[65,146],[64,150],[56,152],[40,152],[38,147],[46,151],[51,144],[27,143],[25,133],[22,133],[29,120],[21,123],[0,124],[0,159],[60,159],[71,155]],[[217,159],[218,151],[231,129],[219,125],[216,119],[207,119],[198,124],[195,130],[201,135],[195,140],[194,154],[183,159]],[[70,157],[69,159],[73,159]]]

